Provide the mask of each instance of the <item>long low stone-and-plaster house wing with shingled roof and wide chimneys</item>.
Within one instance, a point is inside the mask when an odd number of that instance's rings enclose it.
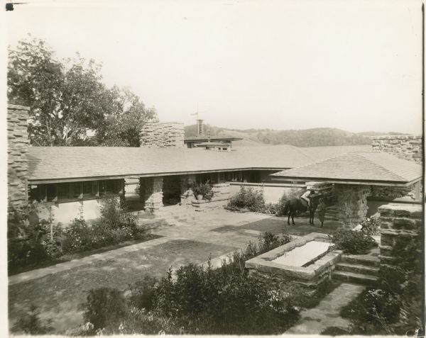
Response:
[[[136,210],[155,211],[164,205],[185,204],[190,185],[197,182],[213,184],[217,196],[212,201],[217,205],[224,205],[232,186],[239,188],[241,184],[270,188],[271,199],[278,201],[277,196],[285,189],[303,187],[308,179],[322,180],[311,175],[281,182],[276,179],[283,175],[276,173],[310,167],[342,154],[373,151],[370,146],[273,145],[229,147],[227,151],[212,151],[205,145],[188,148],[181,123],[145,125],[139,148],[31,147],[27,118],[28,108],[9,105],[9,205],[13,208],[28,200],[44,201],[50,217],[65,224],[80,210],[87,220],[97,218],[102,199],[109,195],[127,198]]]

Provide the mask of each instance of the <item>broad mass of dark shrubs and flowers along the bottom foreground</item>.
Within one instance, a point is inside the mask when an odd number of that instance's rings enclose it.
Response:
[[[91,291],[85,327],[105,334],[282,334],[298,319],[295,298],[288,288],[249,276],[244,261],[289,241],[266,233],[219,269],[189,264],[174,276],[170,269],[160,280],[146,277],[129,287],[126,306],[119,291]]]

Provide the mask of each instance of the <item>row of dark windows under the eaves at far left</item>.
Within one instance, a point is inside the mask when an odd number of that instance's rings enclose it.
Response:
[[[32,185],[29,195],[31,200],[36,201],[64,202],[97,198],[107,194],[121,194],[123,192],[124,179],[108,179]]]

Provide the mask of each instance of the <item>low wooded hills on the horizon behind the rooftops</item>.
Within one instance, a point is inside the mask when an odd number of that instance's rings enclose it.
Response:
[[[315,147],[327,145],[370,145],[370,137],[377,135],[405,135],[403,133],[362,132],[349,133],[337,128],[312,128],[302,130],[271,129],[228,129],[204,125],[211,136],[242,137],[234,142],[237,146],[247,145],[295,145],[297,147]],[[185,126],[185,137],[197,135],[196,125]]]

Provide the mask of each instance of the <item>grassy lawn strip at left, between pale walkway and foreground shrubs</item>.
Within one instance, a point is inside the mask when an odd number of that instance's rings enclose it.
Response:
[[[9,321],[12,323],[29,305],[37,305],[40,317],[52,319],[58,331],[80,325],[82,316],[78,305],[91,288],[101,286],[124,290],[129,283],[143,276],[162,277],[170,266],[199,264],[209,254],[217,257],[231,252],[235,247],[197,242],[170,240],[155,247],[121,254],[114,259],[95,261],[92,264],[38,278],[9,287]]]

